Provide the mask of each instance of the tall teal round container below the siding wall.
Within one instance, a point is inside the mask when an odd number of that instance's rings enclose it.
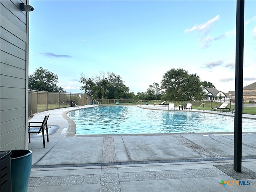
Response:
[[[11,152],[12,192],[26,192],[32,166],[32,151],[22,149]]]

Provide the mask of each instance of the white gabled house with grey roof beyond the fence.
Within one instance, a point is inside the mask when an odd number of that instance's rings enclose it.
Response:
[[[203,88],[203,92],[205,92],[205,100],[206,101],[214,101],[216,98],[218,100],[223,100],[224,102],[230,100],[230,96],[228,94],[225,94],[222,91],[217,90],[216,88]]]

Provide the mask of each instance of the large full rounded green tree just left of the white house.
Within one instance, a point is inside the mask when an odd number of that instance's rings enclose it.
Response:
[[[165,89],[162,96],[164,100],[201,100],[203,97],[199,76],[188,74],[186,70],[181,68],[171,69],[164,74],[162,88]]]

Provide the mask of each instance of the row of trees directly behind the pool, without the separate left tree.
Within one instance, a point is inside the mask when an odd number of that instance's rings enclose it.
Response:
[[[109,99],[143,99],[143,100],[202,100],[203,87],[215,88],[211,82],[201,82],[196,74],[188,74],[184,69],[171,69],[163,76],[161,85],[150,84],[146,92],[129,92],[119,75],[100,72],[95,78],[88,78],[81,74],[81,90],[93,98]]]

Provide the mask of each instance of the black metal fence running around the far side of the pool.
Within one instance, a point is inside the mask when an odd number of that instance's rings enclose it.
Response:
[[[148,101],[148,100],[133,100],[133,99],[93,99],[87,94],[80,93],[61,93],[61,92],[45,92],[28,90],[28,116],[32,114],[43,112],[52,109],[58,109],[63,107],[83,106],[87,104],[120,104],[120,105],[134,105],[134,104],[149,104],[160,103],[160,101]],[[219,100],[219,101],[167,101],[168,103],[174,103],[175,106],[186,105],[192,103],[194,109],[208,109],[212,107],[218,107],[222,102],[229,103],[228,107],[234,109],[234,103],[231,100]],[[199,108],[198,108],[199,107]],[[248,114],[255,114],[256,104],[243,100],[243,110],[248,110]],[[250,112],[251,111],[251,112]],[[254,111],[254,112],[253,112]]]

